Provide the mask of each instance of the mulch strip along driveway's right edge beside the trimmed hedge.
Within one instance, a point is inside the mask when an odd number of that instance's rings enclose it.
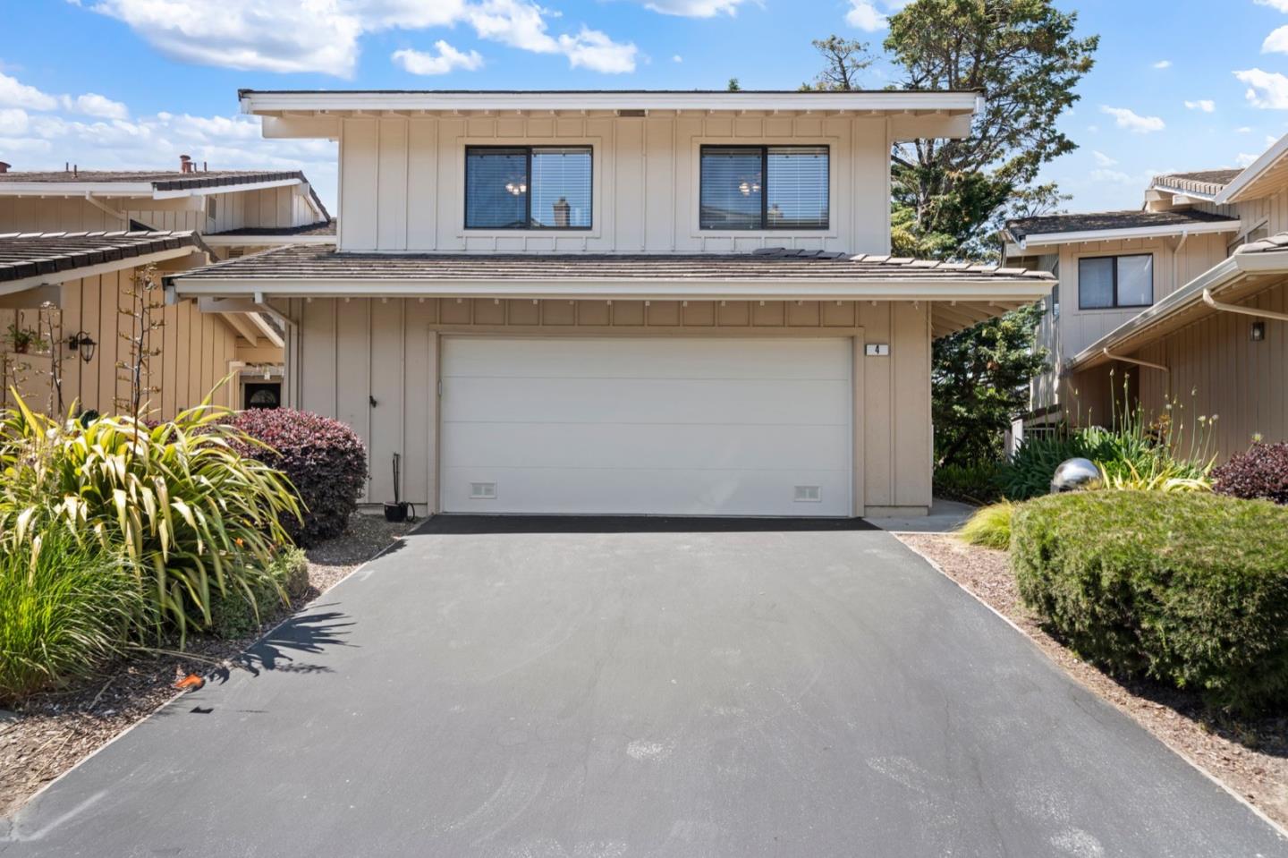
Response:
[[[1267,817],[1288,826],[1288,716],[1234,719],[1212,712],[1195,693],[1114,679],[1042,629],[1037,616],[1020,602],[1005,551],[939,533],[900,533],[899,539],[1010,618],[1075,680]]]

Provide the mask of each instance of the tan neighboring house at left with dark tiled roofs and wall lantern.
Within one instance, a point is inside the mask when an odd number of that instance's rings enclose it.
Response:
[[[164,273],[265,247],[335,241],[334,222],[303,173],[198,170],[185,156],[176,171],[13,171],[0,164],[0,329],[48,330],[43,304],[58,307],[58,347],[91,340],[90,352],[62,361],[63,405],[112,410],[124,390],[116,363],[128,348],[118,335],[129,321],[118,312],[147,264]],[[330,237],[326,233],[331,233]],[[185,249],[161,258],[131,249],[165,238]],[[175,250],[175,249],[170,249]],[[26,255],[24,255],[26,254]],[[33,272],[18,277],[17,272]],[[3,277],[3,274],[0,274]],[[166,307],[152,362],[158,416],[194,405],[225,375],[237,376],[220,399],[236,407],[281,402],[282,329],[270,316],[236,312],[204,316],[194,301]],[[46,335],[48,339],[48,335]],[[12,338],[0,353],[13,352]],[[54,349],[55,352],[58,349]],[[17,358],[40,363],[35,356]],[[41,376],[41,368],[26,372]],[[48,374],[43,377],[48,380]],[[24,392],[45,406],[48,390],[31,379]],[[57,405],[57,403],[55,403]]]

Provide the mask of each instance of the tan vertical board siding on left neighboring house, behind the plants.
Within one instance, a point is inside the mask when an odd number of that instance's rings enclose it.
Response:
[[[124,370],[116,365],[129,356],[129,344],[121,334],[129,334],[131,319],[122,316],[120,308],[130,305],[125,291],[130,289],[134,272],[125,269],[62,285],[63,338],[85,331],[98,343],[89,363],[73,352],[64,352],[64,408],[79,402],[82,410],[111,414],[116,411],[113,399],[128,392],[128,385],[120,381]],[[36,330],[40,313],[35,309],[0,309],[0,327],[8,329],[17,321],[22,327]],[[152,345],[160,348],[161,354],[152,358],[149,384],[161,390],[149,396],[151,416],[169,419],[200,403],[228,375],[229,362],[237,359],[237,334],[218,316],[202,313],[194,300],[167,305],[160,310],[160,317],[165,325],[153,332]],[[43,325],[40,327],[44,330]],[[10,350],[12,345],[5,340],[0,348]],[[23,359],[44,370],[40,375],[28,372],[23,397],[39,411],[50,410],[50,358],[28,354]],[[236,389],[236,380],[232,386]],[[215,402],[234,405],[231,396],[225,389],[215,397]]]

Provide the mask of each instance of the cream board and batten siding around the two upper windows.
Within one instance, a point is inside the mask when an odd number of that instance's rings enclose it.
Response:
[[[827,144],[831,223],[822,231],[699,231],[702,144]],[[465,229],[465,148],[592,147],[585,231]],[[343,250],[734,253],[764,246],[890,251],[885,119],[823,116],[345,119]]]

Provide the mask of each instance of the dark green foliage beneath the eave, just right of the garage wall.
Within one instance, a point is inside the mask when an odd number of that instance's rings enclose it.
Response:
[[[935,340],[936,465],[1001,459],[1002,430],[1028,407],[1029,380],[1046,366],[1046,350],[1033,348],[1041,318],[1041,305],[1030,304]]]

